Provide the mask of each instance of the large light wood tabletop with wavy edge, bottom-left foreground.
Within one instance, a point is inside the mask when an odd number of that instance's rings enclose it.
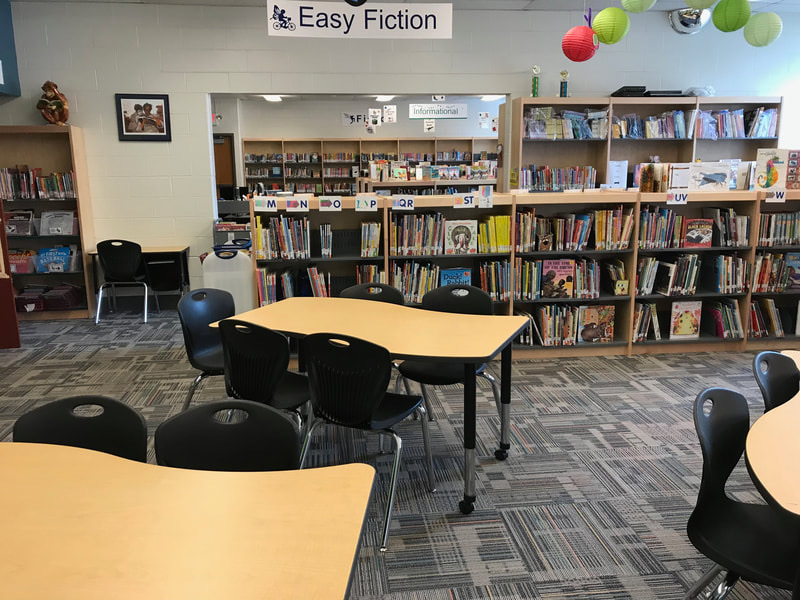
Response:
[[[0,443],[2,596],[344,598],[374,475],[192,471]]]

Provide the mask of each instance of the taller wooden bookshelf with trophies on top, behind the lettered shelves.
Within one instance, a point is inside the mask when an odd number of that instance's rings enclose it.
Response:
[[[535,109],[552,107],[556,111],[605,111],[608,115],[607,131],[591,139],[542,139],[531,137],[525,131],[525,115]],[[658,156],[661,162],[706,162],[739,158],[755,160],[759,148],[775,148],[778,138],[720,138],[704,139],[697,131],[686,139],[667,137],[635,138],[615,137],[611,126],[615,118],[636,114],[647,118],[674,110],[685,116],[690,111],[720,111],[758,107],[780,110],[779,97],[568,97],[568,98],[514,98],[511,101],[511,137],[505,139],[505,104],[500,108],[500,142],[504,146],[505,161],[498,168],[498,189],[519,189],[516,175],[529,165],[547,165],[553,168],[591,166],[597,171],[596,184],[605,183],[609,161],[628,161],[629,172],[633,166],[651,162]],[[780,122],[777,124],[780,125]],[[688,133],[688,132],[687,132]],[[507,177],[508,176],[508,177]],[[506,181],[510,183],[506,183]]]

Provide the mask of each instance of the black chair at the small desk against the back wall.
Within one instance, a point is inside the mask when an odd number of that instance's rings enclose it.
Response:
[[[104,240],[97,244],[97,258],[100,266],[103,267],[104,281],[97,292],[97,314],[95,324],[100,322],[100,309],[103,306],[103,290],[111,288],[113,306],[116,309],[117,291],[116,286],[138,286],[144,288],[144,322],[147,323],[147,298],[150,288],[148,287],[146,265],[142,260],[142,247],[136,242],[127,240]],[[158,305],[158,294],[153,290],[153,297]]]

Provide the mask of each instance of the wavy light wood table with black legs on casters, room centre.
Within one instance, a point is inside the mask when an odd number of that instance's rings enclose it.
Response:
[[[475,369],[502,352],[499,460],[508,456],[511,341],[526,317],[463,315],[350,298],[289,298],[234,317],[302,337],[339,333],[386,348],[393,358],[464,364],[464,514],[475,503]]]

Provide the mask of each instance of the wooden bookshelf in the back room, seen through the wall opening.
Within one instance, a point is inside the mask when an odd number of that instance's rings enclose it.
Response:
[[[469,164],[496,153],[496,147],[496,138],[244,139],[244,181],[251,190],[261,183],[267,190],[352,195],[371,160]],[[455,153],[459,158],[451,158]],[[305,160],[290,160],[292,155]],[[468,191],[472,182],[455,185]]]

